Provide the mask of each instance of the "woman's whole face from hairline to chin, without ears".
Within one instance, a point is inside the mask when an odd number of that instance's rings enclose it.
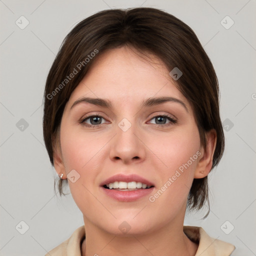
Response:
[[[152,63],[128,47],[108,50],[65,105],[60,157],[88,226],[138,234],[183,223],[200,139],[191,106],[169,72],[156,57]],[[152,100],[159,97],[170,100]]]

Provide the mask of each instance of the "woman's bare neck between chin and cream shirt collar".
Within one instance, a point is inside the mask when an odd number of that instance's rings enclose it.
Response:
[[[85,221],[84,221],[85,222]],[[183,232],[181,223],[173,220],[162,228],[143,234],[118,236],[110,234],[86,220],[86,239],[81,245],[81,255],[130,255],[144,256],[194,256],[198,245],[192,242]],[[97,237],[95,239],[95,237]],[[160,248],[160,253],[159,253]]]

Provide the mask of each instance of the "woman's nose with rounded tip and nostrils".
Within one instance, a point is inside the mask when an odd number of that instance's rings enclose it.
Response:
[[[127,123],[125,123],[127,125]],[[109,157],[112,161],[125,164],[141,162],[145,158],[145,144],[141,132],[132,124],[127,130],[121,125],[116,127],[116,134],[110,141]]]

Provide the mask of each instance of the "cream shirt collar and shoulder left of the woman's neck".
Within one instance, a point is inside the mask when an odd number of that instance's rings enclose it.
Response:
[[[60,243],[55,248],[51,249],[44,256],[71,256],[71,255],[81,255],[80,244],[85,237],[84,225],[76,228],[72,235]]]

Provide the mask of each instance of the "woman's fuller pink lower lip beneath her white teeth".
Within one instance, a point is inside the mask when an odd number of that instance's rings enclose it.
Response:
[[[130,201],[135,201],[135,200],[151,193],[153,191],[154,187],[152,186],[150,188],[140,188],[137,190],[130,190],[130,191],[107,189],[107,188],[104,188],[103,186],[101,186],[100,189],[102,189],[106,195],[108,195],[118,201],[130,202]]]

